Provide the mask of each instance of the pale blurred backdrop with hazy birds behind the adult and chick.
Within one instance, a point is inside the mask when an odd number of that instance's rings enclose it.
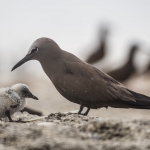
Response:
[[[150,96],[149,0],[0,0],[0,86],[21,82],[40,99],[28,108],[43,115],[79,109],[63,98],[37,61],[11,72],[30,45],[49,37],[68,52]],[[102,108],[90,116],[150,118],[150,110]]]

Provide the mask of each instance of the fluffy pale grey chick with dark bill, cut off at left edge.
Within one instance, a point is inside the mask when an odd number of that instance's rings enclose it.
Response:
[[[13,122],[11,115],[22,110],[26,105],[25,98],[38,100],[25,84],[15,84],[10,88],[0,89],[0,118],[8,117]]]

